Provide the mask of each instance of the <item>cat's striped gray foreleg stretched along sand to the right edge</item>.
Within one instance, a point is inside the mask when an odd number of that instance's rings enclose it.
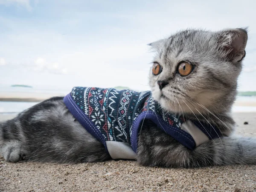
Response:
[[[222,137],[189,150],[151,122],[139,136],[137,161],[144,166],[203,167],[256,164],[256,139]]]

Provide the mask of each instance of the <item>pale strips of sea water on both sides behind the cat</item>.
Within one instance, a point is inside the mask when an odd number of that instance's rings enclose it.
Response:
[[[12,91],[20,91],[26,93],[51,93],[56,91],[56,89],[47,89],[47,88],[30,88],[30,87],[10,87],[10,86],[1,86],[0,91],[4,92],[12,92]],[[59,90],[61,93],[69,93],[71,89],[63,89]],[[239,96],[237,97],[239,103],[247,102],[247,103],[256,103],[256,96]],[[38,102],[6,102],[0,101],[0,114],[11,114],[11,113],[19,113]],[[233,112],[256,112],[256,106],[233,106]]]

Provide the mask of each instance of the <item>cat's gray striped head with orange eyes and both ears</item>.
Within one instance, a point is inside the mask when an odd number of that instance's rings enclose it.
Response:
[[[229,112],[246,43],[246,29],[188,29],[149,44],[156,51],[149,75],[154,99],[175,113]]]

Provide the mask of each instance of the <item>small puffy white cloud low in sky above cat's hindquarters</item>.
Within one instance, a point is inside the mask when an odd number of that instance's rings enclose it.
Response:
[[[67,68],[62,68],[58,63],[48,63],[44,58],[37,58],[34,65],[30,66],[32,70],[38,72],[48,72],[53,74],[65,75],[68,73]]]

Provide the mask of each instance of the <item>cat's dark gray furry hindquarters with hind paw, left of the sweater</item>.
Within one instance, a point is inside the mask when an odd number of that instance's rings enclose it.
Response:
[[[6,161],[84,163],[110,159],[104,145],[55,97],[0,123],[0,155]]]

